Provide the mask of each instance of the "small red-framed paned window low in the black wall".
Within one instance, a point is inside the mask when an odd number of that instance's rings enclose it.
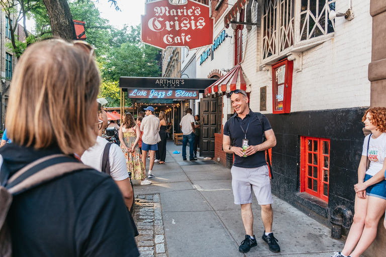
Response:
[[[328,202],[330,139],[301,137],[300,191]]]

